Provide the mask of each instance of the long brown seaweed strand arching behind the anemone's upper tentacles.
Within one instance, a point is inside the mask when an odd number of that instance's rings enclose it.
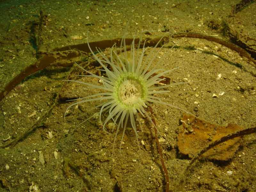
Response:
[[[246,57],[248,60],[252,61],[256,65],[256,60],[254,60],[251,55],[246,52],[243,48],[218,39],[216,37],[212,36],[206,36],[199,33],[177,33],[170,35],[172,38],[181,38],[181,37],[187,37],[187,38],[199,38],[199,39],[205,39],[208,41],[216,42],[221,45],[224,45],[236,52],[238,52],[241,56]],[[126,38],[125,42],[127,45],[131,44],[133,38]],[[158,41],[160,40],[160,37],[157,38],[146,38],[144,41],[146,41],[145,46],[154,46]],[[135,43],[138,43],[139,38],[135,39]],[[169,41],[168,37],[164,37],[162,39],[162,42],[158,44],[158,46],[162,46],[164,43],[167,43]],[[117,46],[121,43],[121,38],[117,39],[111,39],[111,40],[102,40],[97,42],[91,42],[90,46],[92,48],[92,51],[96,51],[96,48],[100,48],[101,50],[106,49],[107,47],[113,46],[113,44],[117,44]],[[78,50],[78,51],[75,51]],[[79,52],[80,51],[80,52]],[[38,52],[41,57],[36,61],[35,64],[32,64],[22,70],[19,75],[15,76],[5,87],[4,90],[0,92],[0,100],[2,100],[16,85],[18,85],[22,80],[24,80],[29,75],[42,70],[50,65],[53,65],[54,63],[59,64],[60,66],[70,66],[72,65],[72,62],[68,61],[70,59],[75,59],[76,57],[80,56],[80,54],[84,54],[90,52],[89,47],[87,43],[84,44],[76,44],[76,45],[69,45],[61,48],[55,48],[53,49],[52,53],[45,53],[45,52]],[[255,67],[255,66],[254,66]],[[168,82],[167,82],[168,83]]]

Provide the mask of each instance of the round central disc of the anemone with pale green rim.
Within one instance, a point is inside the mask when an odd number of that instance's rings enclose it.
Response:
[[[116,81],[116,101],[123,109],[132,109],[133,112],[140,106],[147,107],[147,86],[143,78],[134,73],[124,73]]]

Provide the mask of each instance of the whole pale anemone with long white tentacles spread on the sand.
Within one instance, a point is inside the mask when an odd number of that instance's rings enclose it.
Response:
[[[163,38],[163,37],[162,37]],[[88,39],[87,44],[88,47],[93,55],[93,57],[99,62],[101,67],[103,68],[102,71],[105,72],[105,76],[98,76],[92,74],[91,72],[85,70],[81,66],[86,73],[90,75],[85,75],[89,77],[96,77],[102,83],[102,86],[85,83],[76,80],[69,80],[73,82],[77,82],[80,84],[84,84],[89,86],[90,88],[96,88],[99,90],[103,90],[103,92],[93,94],[84,98],[79,98],[80,101],[73,103],[70,105],[68,109],[74,105],[90,102],[95,100],[100,100],[102,103],[96,108],[100,107],[99,111],[99,118],[100,122],[103,126],[103,130],[106,130],[106,124],[113,120],[116,125],[116,134],[114,138],[114,145],[113,151],[115,147],[116,137],[119,132],[120,127],[123,128],[123,135],[121,139],[121,144],[124,138],[125,128],[127,126],[127,122],[130,123],[132,126],[133,131],[135,132],[137,142],[138,141],[138,132],[136,129],[136,118],[139,118],[139,114],[143,117],[147,117],[148,120],[156,126],[149,115],[149,112],[146,110],[147,106],[151,105],[152,103],[163,104],[166,106],[171,106],[174,108],[181,109],[179,107],[173,106],[166,102],[163,102],[160,97],[155,96],[154,94],[161,94],[166,93],[169,91],[162,90],[164,88],[170,87],[174,84],[183,84],[184,82],[168,84],[168,85],[161,85],[161,86],[154,86],[159,84],[160,81],[163,81],[161,76],[164,74],[169,73],[170,70],[158,69],[152,67],[152,63],[156,60],[156,47],[161,42],[162,38],[159,42],[155,45],[153,49],[148,52],[148,55],[145,56],[145,52],[149,49],[149,47],[145,47],[145,42],[143,48],[142,47],[142,38],[139,38],[139,42],[137,44],[137,48],[135,48],[135,36],[133,37],[133,41],[130,47],[130,52],[128,52],[128,48],[125,45],[125,35],[122,38],[120,48],[117,48],[116,45],[113,45],[110,49],[110,58],[105,56],[101,50],[98,50],[100,56],[97,56],[91,49]],[[162,47],[161,47],[162,48]],[[119,49],[119,50],[118,50]],[[120,54],[118,54],[118,51]],[[162,72],[161,72],[162,71]],[[181,109],[183,110],[183,109]],[[102,112],[107,111],[108,116],[105,120],[101,121]],[[114,131],[114,128],[112,132]],[[121,146],[120,146],[121,148]]]

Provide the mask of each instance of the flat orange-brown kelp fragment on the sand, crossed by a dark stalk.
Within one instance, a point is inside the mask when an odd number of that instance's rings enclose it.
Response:
[[[190,158],[220,138],[232,132],[244,130],[242,126],[229,124],[220,126],[184,113],[181,120],[183,127],[179,130],[178,148],[181,154]],[[227,140],[206,151],[202,156],[211,160],[227,161],[233,157],[240,145],[240,137]]]

